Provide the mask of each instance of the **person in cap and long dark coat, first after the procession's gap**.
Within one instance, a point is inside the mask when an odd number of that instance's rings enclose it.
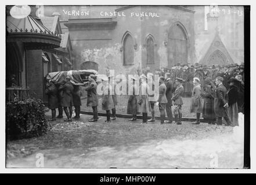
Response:
[[[127,105],[127,114],[132,114],[132,119],[129,121],[135,121],[137,119],[137,114],[139,114],[139,108],[138,108],[138,98],[139,95],[136,95],[135,90],[138,89],[138,85],[136,82],[138,82],[138,79],[135,77],[131,77],[132,79],[132,94],[129,95],[128,99],[128,105]]]

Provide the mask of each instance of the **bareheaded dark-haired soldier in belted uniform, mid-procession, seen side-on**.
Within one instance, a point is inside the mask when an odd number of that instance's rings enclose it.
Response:
[[[164,83],[164,77],[161,76],[159,78],[159,97],[158,97],[158,108],[160,111],[160,120],[161,120],[161,124],[164,124],[164,119],[165,119],[165,105],[166,103],[168,103],[167,98],[166,98],[166,86]]]

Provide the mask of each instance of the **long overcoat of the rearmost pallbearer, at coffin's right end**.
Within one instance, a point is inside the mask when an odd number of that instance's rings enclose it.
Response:
[[[98,106],[97,84],[96,82],[89,83],[85,90],[87,91],[86,106]]]

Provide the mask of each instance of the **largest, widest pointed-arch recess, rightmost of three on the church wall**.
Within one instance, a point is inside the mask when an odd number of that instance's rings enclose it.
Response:
[[[188,36],[180,23],[174,23],[168,31],[168,66],[188,63]]]

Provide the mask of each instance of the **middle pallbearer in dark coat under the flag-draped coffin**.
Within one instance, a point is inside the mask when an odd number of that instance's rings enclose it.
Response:
[[[64,81],[65,81],[65,84],[59,87],[60,90],[63,90],[63,95],[61,97],[62,99],[60,101],[60,104],[63,106],[64,112],[67,116],[67,119],[64,121],[72,121],[74,87],[73,87],[73,84],[70,82],[70,77],[67,76]],[[67,108],[69,109],[69,112]]]

